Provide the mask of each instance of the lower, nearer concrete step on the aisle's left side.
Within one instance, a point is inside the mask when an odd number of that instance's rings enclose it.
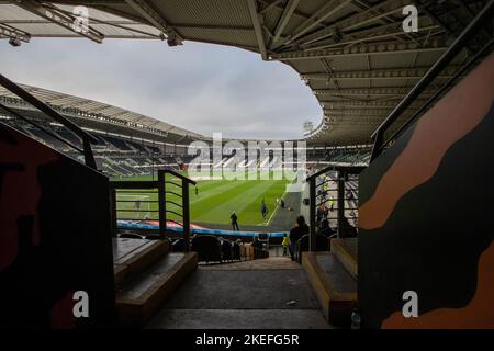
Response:
[[[143,325],[197,267],[195,252],[173,252],[123,281],[116,292],[120,321]]]

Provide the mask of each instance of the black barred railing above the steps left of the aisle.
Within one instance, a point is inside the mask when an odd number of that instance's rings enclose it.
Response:
[[[172,176],[175,179],[167,179],[167,174]],[[176,181],[178,180],[178,182]],[[157,219],[159,223],[159,237],[165,239],[167,237],[167,222],[175,223],[182,227],[183,229],[183,242],[184,251],[190,250],[190,200],[189,200],[189,185],[195,185],[195,182],[173,170],[158,170],[158,180],[151,181],[110,181],[111,189],[111,203],[112,203],[112,223],[113,235],[117,233],[117,220],[119,219]],[[168,188],[173,186],[177,190],[181,190],[180,193],[176,191],[168,190]],[[147,200],[143,200],[143,194],[148,196]],[[119,199],[120,195],[120,199]],[[134,196],[132,200],[123,200],[124,195]],[[169,197],[181,199],[180,203],[170,200]],[[132,208],[125,208],[122,204],[131,204]],[[148,206],[143,207],[143,204],[148,204]],[[151,207],[151,205],[154,206]],[[157,206],[156,206],[157,204]],[[181,213],[171,210],[170,207],[180,208]],[[120,214],[124,214],[121,216]],[[126,213],[134,213],[137,216],[127,216]],[[144,218],[143,214],[153,213],[157,214],[157,218],[148,217]],[[168,218],[168,215],[172,214],[176,217],[180,217],[182,223],[178,220]]]

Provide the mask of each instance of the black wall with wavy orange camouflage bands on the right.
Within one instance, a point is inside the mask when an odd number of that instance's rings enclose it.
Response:
[[[494,54],[360,174],[363,327],[494,328],[493,102]]]

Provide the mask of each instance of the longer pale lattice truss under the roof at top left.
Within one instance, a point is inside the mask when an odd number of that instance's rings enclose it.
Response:
[[[85,36],[88,39],[91,39],[98,44],[103,42],[104,35],[100,32],[89,27],[88,32],[77,31],[75,26],[76,18],[72,15],[65,14],[60,11],[57,11],[55,8],[45,7],[37,1],[34,0],[19,0],[14,2],[15,5],[30,11],[45,20],[48,20],[52,23],[58,24],[59,26],[74,32],[80,36]]]

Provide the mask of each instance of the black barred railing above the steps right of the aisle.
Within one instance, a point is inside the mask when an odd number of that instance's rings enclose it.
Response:
[[[358,194],[356,194],[356,191],[358,189],[350,188],[347,189],[346,183],[350,178],[353,178],[352,181],[355,181],[358,174],[364,169],[364,167],[335,167],[330,166],[327,167],[310,177],[307,177],[306,181],[308,182],[308,211],[310,211],[310,238],[308,238],[308,250],[315,251],[316,248],[314,247],[315,240],[316,240],[316,234],[317,228],[321,227],[322,218],[324,217],[325,213],[326,215],[329,212],[333,212],[330,207],[333,207],[333,203],[336,204],[336,220],[337,220],[337,228],[338,228],[338,236],[341,236],[341,228],[344,227],[344,219],[345,219],[345,211],[350,210],[352,212],[358,211],[358,206],[356,205],[358,202]],[[336,178],[330,177],[329,173],[335,173]],[[326,179],[326,176],[328,179]],[[323,177],[322,181],[318,181]],[[327,184],[335,184],[336,189],[327,189],[324,190],[324,188]],[[318,189],[323,188],[321,194],[318,194]],[[336,196],[333,199],[328,195],[328,192],[335,192],[337,193]],[[346,191],[351,191],[352,195],[351,199],[346,196]],[[322,197],[319,201],[318,199]],[[346,201],[351,206],[346,206]],[[329,208],[325,212],[319,212],[319,218],[317,214],[317,208],[319,208],[323,204],[329,204]],[[326,216],[327,218],[327,216]],[[332,218],[327,218],[332,219]],[[355,219],[357,219],[357,215],[355,216]]]

